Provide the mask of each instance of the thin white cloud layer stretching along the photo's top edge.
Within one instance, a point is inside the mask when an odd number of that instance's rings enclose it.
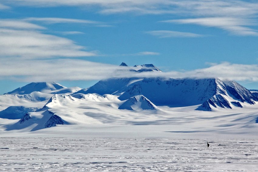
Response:
[[[5,0],[12,5],[37,7],[49,6],[98,6],[101,13],[137,12],[142,14],[187,14],[198,16],[247,16],[257,14],[258,3],[241,0]]]

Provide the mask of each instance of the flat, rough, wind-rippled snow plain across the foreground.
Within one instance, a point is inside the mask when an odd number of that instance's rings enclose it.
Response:
[[[1,171],[256,171],[258,141],[2,137]]]

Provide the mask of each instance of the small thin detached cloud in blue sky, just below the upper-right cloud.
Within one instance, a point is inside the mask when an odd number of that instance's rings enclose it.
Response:
[[[155,31],[148,31],[145,32],[153,36],[157,36],[158,38],[170,38],[170,37],[201,37],[204,35],[196,34],[196,33],[190,33],[190,32],[177,32],[177,31],[171,31],[171,30],[155,30]]]

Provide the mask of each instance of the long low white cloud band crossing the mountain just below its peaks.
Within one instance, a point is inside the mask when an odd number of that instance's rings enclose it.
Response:
[[[133,68],[133,67],[132,67]],[[119,69],[119,70],[118,70]],[[222,62],[192,71],[135,73],[130,67],[79,59],[13,60],[0,59],[0,78],[17,81],[99,80],[110,77],[220,78],[258,81],[258,65]]]

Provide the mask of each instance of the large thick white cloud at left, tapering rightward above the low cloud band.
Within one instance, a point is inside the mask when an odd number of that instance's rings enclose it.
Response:
[[[18,20],[0,20],[0,58],[95,56],[70,39],[44,34],[42,26]]]

